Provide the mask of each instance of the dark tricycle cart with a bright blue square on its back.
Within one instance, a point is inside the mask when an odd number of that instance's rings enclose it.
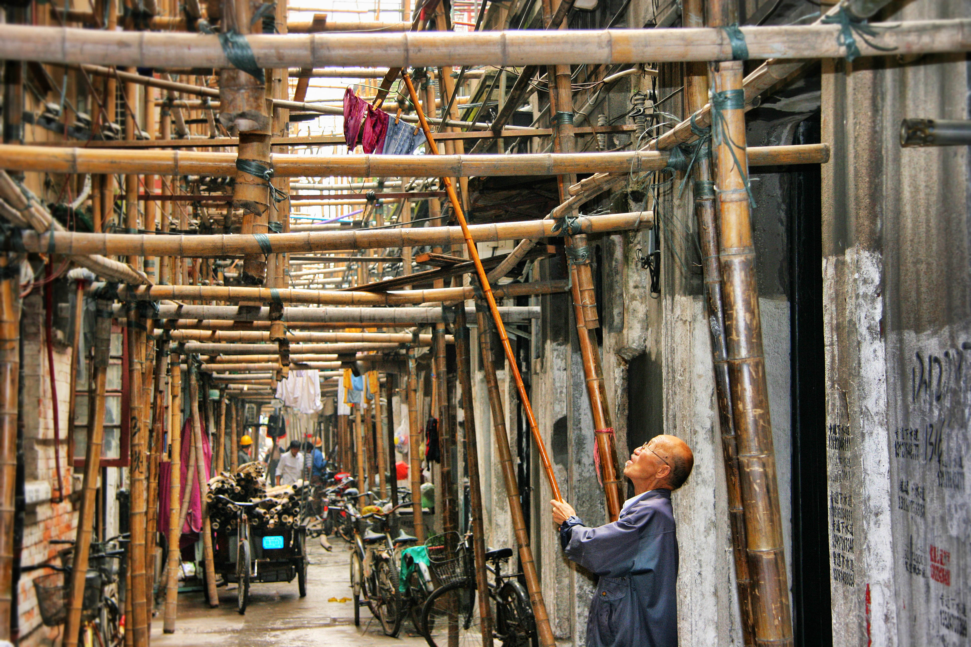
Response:
[[[247,514],[250,502],[232,501],[237,510],[236,527],[216,533],[214,562],[216,572],[227,582],[236,582],[236,608],[246,613],[251,582],[291,582],[297,578],[300,597],[307,595],[307,528],[250,527]]]

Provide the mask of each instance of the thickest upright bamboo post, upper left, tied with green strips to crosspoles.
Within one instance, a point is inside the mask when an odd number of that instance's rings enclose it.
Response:
[[[248,0],[224,0],[222,30],[239,34],[251,33],[251,3]],[[261,25],[261,21],[256,22]],[[236,183],[233,186],[232,209],[243,210],[242,234],[266,234],[269,227],[270,180],[240,168],[255,162],[269,169],[272,119],[267,114],[266,82],[235,68],[219,71],[219,121],[238,131]],[[248,254],[243,257],[243,282],[262,285],[266,278],[266,257]]]

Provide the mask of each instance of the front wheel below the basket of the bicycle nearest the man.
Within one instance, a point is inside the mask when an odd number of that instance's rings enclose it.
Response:
[[[482,645],[475,582],[460,580],[436,589],[425,600],[421,626],[429,647]]]

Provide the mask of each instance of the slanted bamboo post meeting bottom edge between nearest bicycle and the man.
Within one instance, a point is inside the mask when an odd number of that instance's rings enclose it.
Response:
[[[482,304],[476,305],[476,316],[479,324],[480,351],[483,356],[483,370],[485,372],[485,388],[488,393],[488,404],[492,411],[492,430],[495,434],[496,451],[499,453],[499,466],[502,469],[503,482],[506,485],[506,499],[509,501],[509,511],[513,517],[513,531],[519,546],[519,564],[522,575],[526,580],[526,591],[533,607],[536,619],[536,631],[539,634],[540,645],[552,647],[556,644],[550,627],[550,616],[547,614],[546,601],[540,588],[539,574],[536,563],[533,562],[533,551],[529,547],[529,532],[526,530],[526,520],[522,516],[522,503],[519,501],[519,484],[516,480],[516,468],[513,465],[513,454],[509,450],[509,435],[506,433],[506,414],[502,408],[502,397],[499,393],[499,381],[495,375],[495,365],[490,361],[492,357],[491,331],[485,320]]]

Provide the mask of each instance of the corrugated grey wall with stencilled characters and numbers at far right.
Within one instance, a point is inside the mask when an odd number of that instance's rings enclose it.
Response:
[[[969,9],[921,1],[889,17]],[[964,56],[823,67],[837,644],[968,644],[968,151],[901,149],[897,134],[903,117],[968,118],[967,90]]]

